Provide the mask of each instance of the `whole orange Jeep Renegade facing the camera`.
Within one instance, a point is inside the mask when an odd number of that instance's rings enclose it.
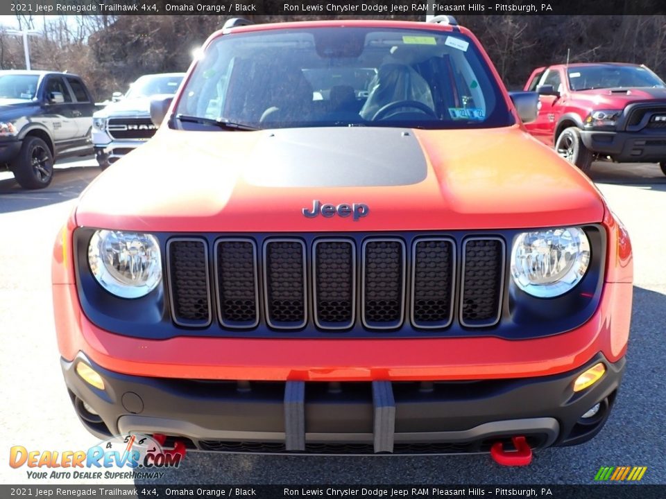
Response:
[[[525,130],[537,102],[447,17],[228,21],[56,243],[81,423],[506,464],[594,437],[624,372],[631,244]]]

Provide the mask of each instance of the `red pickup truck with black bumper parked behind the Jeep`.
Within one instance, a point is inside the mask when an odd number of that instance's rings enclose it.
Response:
[[[524,87],[539,96],[534,137],[588,172],[592,161],[658,163],[666,175],[666,84],[645,66],[557,64]]]

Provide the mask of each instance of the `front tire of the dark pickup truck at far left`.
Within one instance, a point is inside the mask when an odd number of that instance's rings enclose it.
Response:
[[[16,181],[24,189],[44,189],[53,180],[53,155],[39,137],[26,137],[10,164]]]

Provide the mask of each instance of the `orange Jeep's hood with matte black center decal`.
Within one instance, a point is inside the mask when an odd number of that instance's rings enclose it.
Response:
[[[359,220],[303,216],[364,203]],[[80,226],[137,231],[508,229],[599,222],[593,184],[520,127],[304,128],[155,138],[82,194]]]

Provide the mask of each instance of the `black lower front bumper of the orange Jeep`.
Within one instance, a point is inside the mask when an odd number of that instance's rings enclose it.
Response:
[[[82,361],[104,390],[76,374]],[[61,362],[78,417],[98,437],[163,433],[201,450],[337,454],[479,453],[517,435],[532,448],[580,444],[604,426],[625,364],[599,354],[538,378],[304,383],[127,376],[83,355]],[[574,380],[597,362],[606,374],[574,393]]]

